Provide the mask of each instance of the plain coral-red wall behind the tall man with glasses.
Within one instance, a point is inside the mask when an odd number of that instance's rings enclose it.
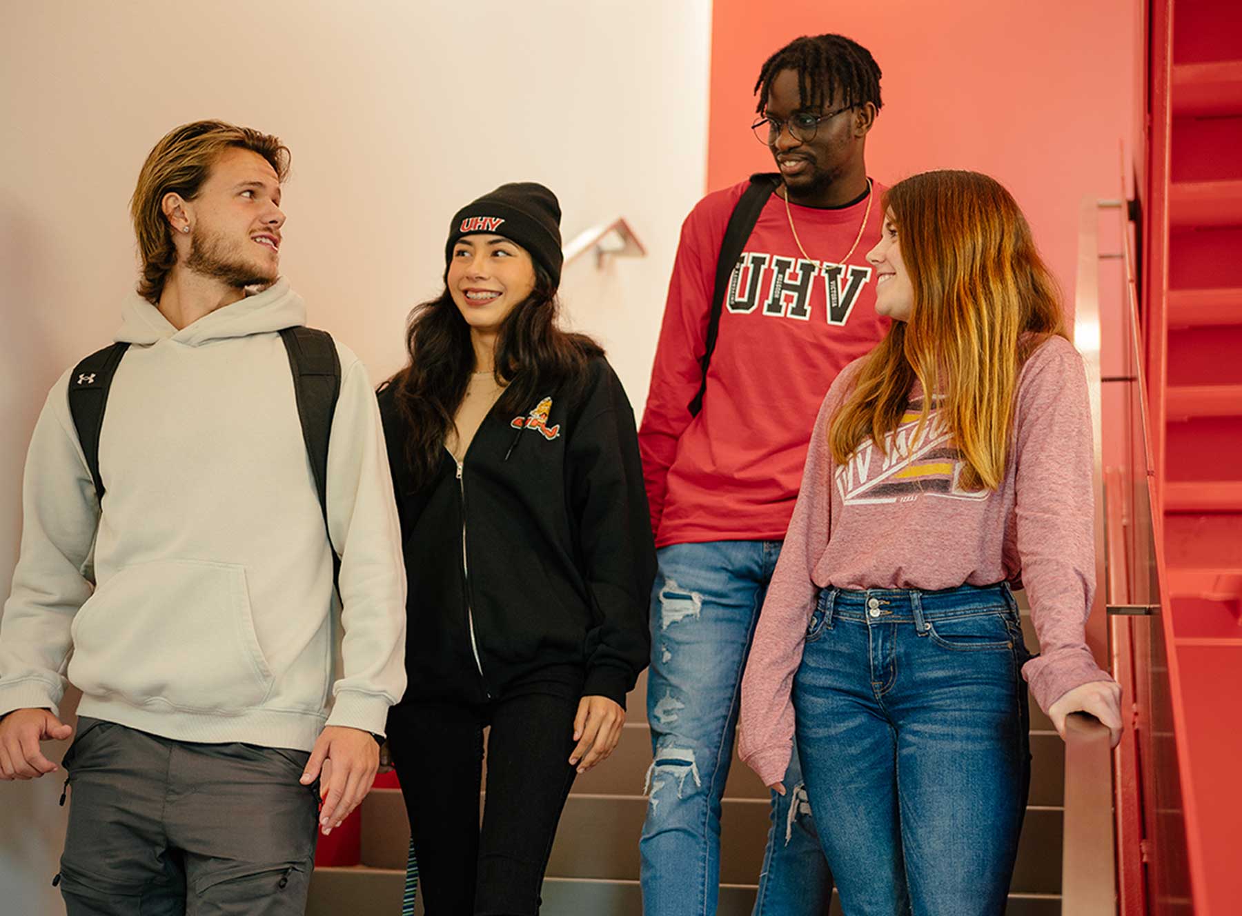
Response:
[[[799,35],[840,32],[879,63],[884,108],[868,171],[893,184],[963,168],[1017,197],[1072,307],[1083,195],[1120,196],[1135,135],[1133,0],[715,0],[708,187],[773,170],[749,132],[764,60]],[[1126,163],[1131,161],[1126,151]]]

